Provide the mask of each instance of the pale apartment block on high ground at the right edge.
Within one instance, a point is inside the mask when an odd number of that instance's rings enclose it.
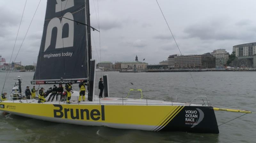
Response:
[[[256,55],[256,42],[233,46],[236,57]]]

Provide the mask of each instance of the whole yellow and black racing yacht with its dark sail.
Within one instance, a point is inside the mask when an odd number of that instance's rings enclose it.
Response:
[[[78,103],[79,93],[74,91],[71,104],[60,100],[38,103],[35,99],[11,99],[1,101],[0,111],[77,125],[219,133],[214,110],[231,110],[212,107],[204,96],[190,103],[149,100],[142,96],[140,99],[111,97],[108,75],[103,76],[105,98],[94,95],[91,29],[95,30],[90,25],[89,0],[48,0],[36,71],[31,81],[31,84],[41,85],[86,81],[88,100]],[[198,102],[198,98],[205,100]]]

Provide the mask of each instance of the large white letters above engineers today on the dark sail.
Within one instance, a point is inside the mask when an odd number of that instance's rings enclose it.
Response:
[[[56,0],[57,4],[55,5],[55,12],[64,11],[68,8],[74,6],[73,0]],[[47,25],[46,30],[46,39],[44,45],[44,52],[49,48],[51,45],[52,39],[52,31],[53,28],[57,28],[57,37],[56,37],[56,45],[55,48],[66,48],[66,47],[73,47],[74,46],[74,17],[73,14],[67,12],[60,18],[55,17],[50,20]],[[67,25],[67,26],[65,26]],[[63,27],[68,28],[68,36],[63,38]]]

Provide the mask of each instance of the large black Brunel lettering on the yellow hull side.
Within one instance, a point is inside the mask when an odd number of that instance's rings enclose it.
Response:
[[[53,110],[54,118],[66,118],[66,119],[82,119],[82,120],[102,120],[105,121],[105,109],[104,105],[101,105],[101,111],[98,109],[73,109],[64,108],[61,105],[53,104],[54,107],[59,107],[59,109]],[[75,112],[75,113],[74,113]]]

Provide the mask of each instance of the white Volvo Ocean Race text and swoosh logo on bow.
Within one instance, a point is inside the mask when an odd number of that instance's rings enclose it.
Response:
[[[185,110],[185,124],[192,125],[191,128],[198,125],[204,118],[204,112],[201,109]]]

